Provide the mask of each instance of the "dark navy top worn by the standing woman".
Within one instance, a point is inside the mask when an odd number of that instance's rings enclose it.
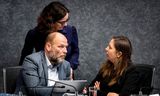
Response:
[[[77,30],[74,26],[67,25],[63,28],[63,30],[60,30],[59,32],[65,35],[68,40],[67,55],[65,60],[70,62],[72,69],[75,70],[79,65]],[[34,51],[38,52],[43,50],[46,37],[47,34],[45,34],[45,32],[39,32],[37,27],[27,33],[19,65],[22,65],[23,60],[27,55],[33,53]]]

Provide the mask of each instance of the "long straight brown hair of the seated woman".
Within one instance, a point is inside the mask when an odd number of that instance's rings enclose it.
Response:
[[[125,36],[113,36],[112,39],[114,40],[116,51],[122,53],[122,58],[120,58],[117,64],[113,64],[111,61],[107,60],[101,66],[100,73],[102,76],[110,78],[109,81],[107,80],[109,86],[115,84],[126,68],[132,64],[132,45],[130,40]]]

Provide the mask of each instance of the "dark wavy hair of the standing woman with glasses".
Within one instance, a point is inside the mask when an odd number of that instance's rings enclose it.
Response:
[[[51,28],[51,23],[55,23],[62,19],[67,13],[69,13],[69,10],[64,4],[58,1],[51,2],[43,9],[38,17],[37,27],[39,31],[45,32],[46,30],[49,30]]]

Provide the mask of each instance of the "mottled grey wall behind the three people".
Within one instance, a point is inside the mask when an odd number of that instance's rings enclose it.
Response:
[[[29,29],[41,10],[54,0],[0,0],[0,68],[18,65]],[[71,11],[76,26],[80,66],[76,79],[95,77],[106,59],[104,48],[113,35],[128,36],[133,62],[156,66],[155,88],[160,88],[160,0],[59,0]],[[0,89],[2,91],[2,74]],[[159,92],[160,90],[154,90]]]

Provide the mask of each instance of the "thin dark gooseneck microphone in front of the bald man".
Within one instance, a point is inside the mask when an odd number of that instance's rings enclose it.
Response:
[[[29,75],[29,76],[39,77],[39,78],[42,78],[42,79],[45,79],[45,80],[54,81],[55,83],[60,83],[60,84],[64,84],[64,85],[70,86],[70,87],[72,87],[75,90],[75,96],[78,96],[78,90],[73,85],[69,85],[69,84],[66,84],[66,83],[63,83],[63,82],[60,82],[60,81],[56,81],[56,80],[53,80],[53,79],[48,79],[48,78],[40,77],[40,76],[37,76],[37,75],[34,75],[34,74],[30,74],[30,73],[25,73],[25,74]],[[56,87],[57,88],[65,88],[65,86],[56,86]]]

